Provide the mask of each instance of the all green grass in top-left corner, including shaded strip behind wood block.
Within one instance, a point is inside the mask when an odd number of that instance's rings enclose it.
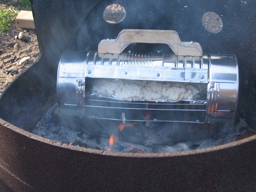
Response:
[[[10,0],[4,0],[5,4],[9,2]],[[20,10],[30,11],[30,1],[23,0],[22,2],[10,5],[8,9],[0,8],[0,32],[8,31]]]

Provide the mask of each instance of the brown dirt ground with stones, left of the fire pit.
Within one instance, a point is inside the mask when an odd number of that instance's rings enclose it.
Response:
[[[15,38],[20,32],[23,33],[23,38]],[[35,62],[38,56],[35,30],[18,28],[14,21],[7,32],[0,32],[0,94],[22,70]],[[17,63],[25,57],[25,62]]]

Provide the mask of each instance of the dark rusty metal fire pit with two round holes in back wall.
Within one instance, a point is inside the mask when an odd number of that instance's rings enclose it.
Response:
[[[116,25],[101,17],[113,3],[126,10]],[[235,54],[240,79],[237,115],[255,128],[256,2],[33,0],[31,5],[41,56],[1,95],[1,191],[256,190],[256,136],[203,150],[123,154],[30,133],[57,102],[61,54],[68,49],[97,50],[100,40],[116,39],[123,29],[176,30],[182,40],[200,42],[205,54]],[[221,32],[210,33],[202,26],[206,11],[222,17]]]

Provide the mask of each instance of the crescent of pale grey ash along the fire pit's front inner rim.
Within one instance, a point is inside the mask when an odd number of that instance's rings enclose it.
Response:
[[[233,142],[250,127],[244,119],[240,119],[240,123],[233,125],[226,123],[222,127],[219,134],[199,140],[189,140],[179,142],[172,145],[152,145],[145,146],[140,144],[123,142],[120,140],[114,141],[114,145],[110,146],[109,138],[98,136],[97,134],[73,131],[68,127],[56,124],[52,121],[52,113],[56,104],[50,108],[41,120],[36,124],[32,133],[48,138],[54,141],[70,144],[77,141],[87,143],[87,146],[95,146],[101,150],[116,151],[116,152],[130,152],[130,153],[174,153],[181,151],[196,150],[200,148],[212,147]],[[77,145],[81,147],[82,145]],[[84,146],[84,145],[83,145]],[[92,148],[92,147],[88,147]]]

